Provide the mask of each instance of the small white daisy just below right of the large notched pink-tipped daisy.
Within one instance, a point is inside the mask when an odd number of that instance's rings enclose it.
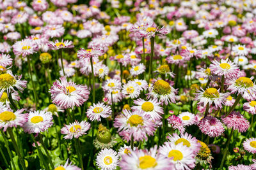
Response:
[[[101,121],[100,117],[107,118],[111,115],[112,110],[110,106],[106,106],[104,103],[93,103],[93,106],[88,108],[86,114],[87,117],[90,118],[91,121],[97,120]]]

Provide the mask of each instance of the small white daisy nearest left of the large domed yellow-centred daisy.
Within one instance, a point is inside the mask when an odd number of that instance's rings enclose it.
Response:
[[[123,85],[122,94],[132,99],[137,98],[140,95],[140,87],[134,81],[128,81],[128,83]]]

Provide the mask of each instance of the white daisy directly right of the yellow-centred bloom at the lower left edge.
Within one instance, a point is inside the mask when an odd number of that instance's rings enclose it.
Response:
[[[22,127],[25,132],[40,133],[46,131],[53,124],[52,114],[45,111],[30,111],[28,114],[28,122]]]

